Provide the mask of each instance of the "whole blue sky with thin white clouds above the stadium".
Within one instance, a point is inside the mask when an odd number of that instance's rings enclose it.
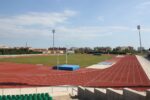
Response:
[[[149,0],[0,0],[0,44],[150,47]]]

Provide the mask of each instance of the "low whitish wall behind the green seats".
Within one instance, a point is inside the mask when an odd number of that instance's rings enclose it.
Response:
[[[0,95],[22,95],[34,93],[57,93],[67,92],[71,95],[77,95],[77,87],[75,86],[50,86],[50,87],[25,87],[25,88],[1,88]]]

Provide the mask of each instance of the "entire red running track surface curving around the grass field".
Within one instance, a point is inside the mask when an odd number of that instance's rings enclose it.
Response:
[[[135,56],[120,58],[106,69],[57,71],[30,64],[0,63],[0,87],[82,85],[150,88],[150,80]]]

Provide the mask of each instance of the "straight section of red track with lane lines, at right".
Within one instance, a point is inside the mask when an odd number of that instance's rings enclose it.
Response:
[[[148,86],[150,80],[135,56],[126,56],[118,63],[106,69],[88,86]]]

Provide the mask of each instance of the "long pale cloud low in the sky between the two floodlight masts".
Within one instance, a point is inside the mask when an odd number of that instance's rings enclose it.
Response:
[[[83,27],[59,27],[57,37],[60,39],[93,40],[101,37],[112,36],[115,33],[126,32],[130,29],[124,26],[83,26]]]

